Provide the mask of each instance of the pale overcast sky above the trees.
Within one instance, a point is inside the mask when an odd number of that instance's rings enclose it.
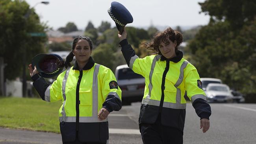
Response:
[[[30,7],[42,0],[25,0]],[[54,28],[64,27],[67,22],[74,22],[78,29],[84,30],[89,20],[98,27],[102,20],[115,26],[108,15],[108,8],[113,0],[44,0],[48,5],[36,5],[35,12],[41,21]],[[124,5],[132,14],[134,22],[127,26],[197,26],[206,25],[209,16],[201,10],[198,2],[204,0],[115,0]]]

